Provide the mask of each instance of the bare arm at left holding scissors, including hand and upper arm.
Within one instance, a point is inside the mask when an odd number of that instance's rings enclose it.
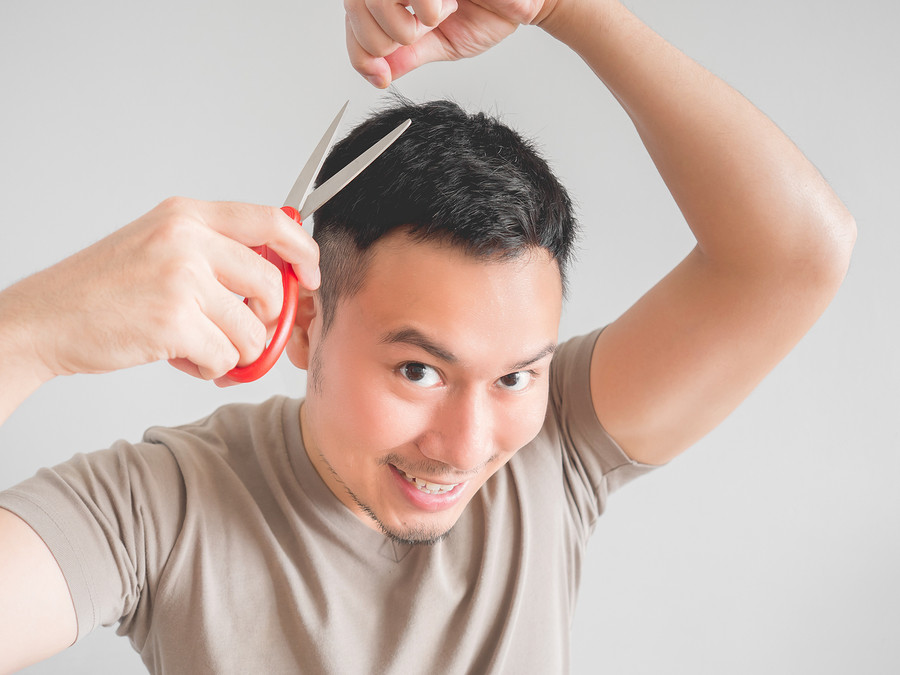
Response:
[[[265,244],[314,288],[317,253],[280,209],[170,199],[0,293],[0,422],[43,382],[159,359],[217,378],[262,351],[281,277]],[[241,297],[254,298],[251,310]],[[32,528],[0,508],[0,674],[77,634],[69,587]]]

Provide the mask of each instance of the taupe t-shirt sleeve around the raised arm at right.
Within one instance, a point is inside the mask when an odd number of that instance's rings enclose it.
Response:
[[[548,422],[559,434],[566,496],[585,533],[593,529],[610,494],[655,468],[628,457],[597,419],[590,366],[601,330],[560,345],[550,379]]]

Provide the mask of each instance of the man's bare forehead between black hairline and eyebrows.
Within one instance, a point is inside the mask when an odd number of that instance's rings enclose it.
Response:
[[[561,310],[559,267],[544,249],[483,259],[396,231],[373,246],[362,287],[335,319],[372,339],[413,329],[475,359],[555,343]]]

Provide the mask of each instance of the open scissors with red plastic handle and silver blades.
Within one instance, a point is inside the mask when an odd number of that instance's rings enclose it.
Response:
[[[325,135],[319,141],[315,151],[306,161],[306,165],[297,176],[294,186],[288,193],[287,199],[281,210],[294,219],[299,225],[303,225],[303,221],[309,218],[315,211],[329,199],[334,197],[338,192],[343,190],[347,184],[356,178],[363,169],[371,164],[375,159],[406,131],[407,127],[412,123],[411,120],[402,122],[396,129],[384,136],[380,141],[372,145],[368,150],[359,157],[347,164],[343,169],[334,174],[327,181],[322,183],[318,188],[309,192],[309,189],[315,183],[316,176],[322,168],[325,161],[325,154],[334,140],[337,133],[338,125],[347,110],[349,101],[340,109],[337,116],[331,122]],[[291,329],[294,327],[294,319],[297,316],[297,299],[299,298],[299,284],[297,282],[297,274],[294,272],[293,266],[284,262],[281,257],[270,250],[266,246],[255,246],[253,250],[263,256],[266,260],[273,263],[281,271],[282,286],[284,288],[284,301],[281,306],[281,314],[278,316],[278,325],[272,340],[263,350],[263,353],[253,363],[233,368],[228,371],[226,377],[234,382],[252,382],[265,375],[284,351],[288,337],[291,335]],[[246,300],[244,301],[246,302]]]

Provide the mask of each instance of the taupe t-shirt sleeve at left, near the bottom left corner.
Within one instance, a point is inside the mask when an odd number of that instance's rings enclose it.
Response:
[[[121,622],[140,643],[157,578],[184,520],[185,491],[169,449],[116,443],[75,455],[0,492],[47,544],[75,605],[78,638]]]

